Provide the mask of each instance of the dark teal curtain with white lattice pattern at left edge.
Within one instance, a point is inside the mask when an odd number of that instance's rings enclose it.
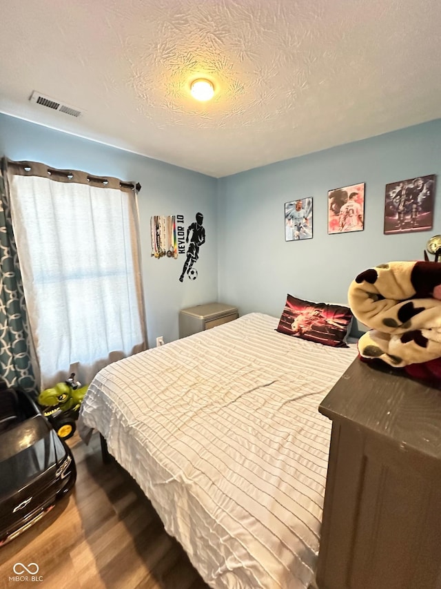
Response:
[[[12,232],[6,163],[0,170],[0,377],[10,386],[37,392],[21,272]]]

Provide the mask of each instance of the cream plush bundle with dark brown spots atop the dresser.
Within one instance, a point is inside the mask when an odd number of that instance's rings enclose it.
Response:
[[[369,268],[351,282],[348,300],[354,316],[370,328],[358,343],[362,358],[412,366],[409,372],[433,367],[441,375],[441,263]]]

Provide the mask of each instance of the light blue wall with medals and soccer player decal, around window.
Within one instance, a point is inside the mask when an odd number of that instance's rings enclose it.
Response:
[[[62,169],[112,175],[140,182],[141,255],[150,347],[156,336],[165,342],[178,338],[178,311],[217,300],[217,209],[214,178],[164,164],[148,157],[52,131],[0,113],[0,156],[10,160],[43,162]],[[204,215],[207,241],[201,247],[198,278],[178,278],[185,261],[151,258],[150,216],[183,214],[185,226],[196,212]],[[68,236],[68,223],[66,223]]]

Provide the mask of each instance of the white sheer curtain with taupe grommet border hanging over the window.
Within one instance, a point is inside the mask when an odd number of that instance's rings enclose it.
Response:
[[[84,173],[48,177],[43,164],[20,174],[21,164],[10,174],[12,226],[40,385],[71,371],[90,383],[145,349],[136,193]]]

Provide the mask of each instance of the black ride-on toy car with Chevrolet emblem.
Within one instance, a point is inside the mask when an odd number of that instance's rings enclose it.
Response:
[[[0,546],[21,534],[72,490],[68,445],[21,389],[0,390]]]

